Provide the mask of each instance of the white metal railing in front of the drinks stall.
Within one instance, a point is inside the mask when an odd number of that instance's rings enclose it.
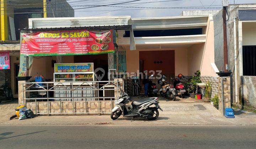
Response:
[[[106,88],[111,86],[112,88]],[[114,88],[113,88],[114,87]],[[119,89],[124,88],[123,81],[87,81],[87,82],[26,82],[23,83],[23,104],[27,102],[35,102],[35,114],[110,114],[111,112],[100,111],[100,101],[109,100],[111,102],[111,110],[113,109],[112,101],[118,98]],[[106,90],[113,90],[113,96],[100,96],[100,91],[105,92]],[[56,97],[57,92],[62,92],[63,96]],[[90,96],[87,94],[81,94],[81,96],[75,96],[79,92],[90,92]],[[51,94],[52,93],[52,94]],[[84,96],[85,95],[85,96]],[[105,95],[105,94],[103,94]],[[40,97],[39,97],[40,96]],[[87,110],[88,100],[98,101],[98,112],[89,112]],[[37,105],[41,101],[47,101],[47,112],[38,113]],[[50,112],[51,101],[59,101],[60,112]],[[72,101],[73,112],[63,112],[62,103],[64,101]],[[85,112],[75,112],[75,102],[85,101]],[[32,105],[32,103],[31,103]],[[32,107],[32,106],[31,106]]]

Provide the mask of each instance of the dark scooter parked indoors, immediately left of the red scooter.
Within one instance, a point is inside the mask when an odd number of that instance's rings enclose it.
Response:
[[[167,84],[166,76],[162,76],[161,79],[158,80],[158,84],[161,85],[160,95],[162,97],[167,97],[173,101],[176,100],[176,89],[173,88],[173,85]]]

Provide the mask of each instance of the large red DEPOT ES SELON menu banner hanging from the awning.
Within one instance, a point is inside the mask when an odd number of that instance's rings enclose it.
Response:
[[[113,30],[95,33],[87,30],[21,33],[21,55],[89,55],[114,53]]]

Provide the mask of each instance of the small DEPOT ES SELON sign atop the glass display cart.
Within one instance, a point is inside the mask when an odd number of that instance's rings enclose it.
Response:
[[[93,63],[54,64],[54,72],[92,72]]]

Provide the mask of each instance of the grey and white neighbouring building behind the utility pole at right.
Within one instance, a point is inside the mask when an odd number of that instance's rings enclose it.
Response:
[[[231,103],[256,109],[256,11],[255,4],[229,5],[228,65],[231,74]],[[224,70],[222,11],[213,16],[214,57],[218,69]]]

